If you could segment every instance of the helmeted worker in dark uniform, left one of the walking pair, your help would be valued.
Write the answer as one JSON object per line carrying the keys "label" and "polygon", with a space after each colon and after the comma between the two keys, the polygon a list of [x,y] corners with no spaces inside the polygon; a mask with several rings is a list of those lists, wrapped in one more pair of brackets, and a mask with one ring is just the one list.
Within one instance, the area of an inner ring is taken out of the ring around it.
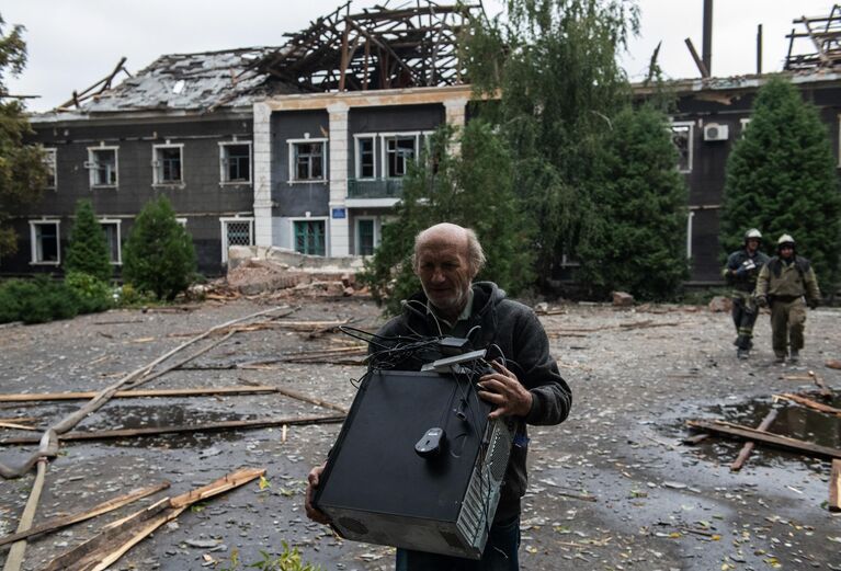
{"label": "helmeted worker in dark uniform, left one of the walking pair", "polygon": [[769,258],[760,252],[762,233],[755,228],[745,232],[745,242],[740,250],[727,258],[727,265],[721,272],[732,286],[732,322],[736,326],[736,356],[748,358],[753,346],[753,323],[757,321],[757,304],[753,290],[757,288],[759,271]]}

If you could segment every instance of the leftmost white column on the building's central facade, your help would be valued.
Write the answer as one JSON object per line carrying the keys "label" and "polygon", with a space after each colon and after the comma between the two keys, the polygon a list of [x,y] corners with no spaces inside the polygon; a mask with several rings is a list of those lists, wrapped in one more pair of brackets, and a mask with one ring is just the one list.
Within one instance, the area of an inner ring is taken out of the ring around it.
{"label": "leftmost white column on the building's central facade", "polygon": [[272,236],[272,110],[254,103],[254,243],[270,247]]}

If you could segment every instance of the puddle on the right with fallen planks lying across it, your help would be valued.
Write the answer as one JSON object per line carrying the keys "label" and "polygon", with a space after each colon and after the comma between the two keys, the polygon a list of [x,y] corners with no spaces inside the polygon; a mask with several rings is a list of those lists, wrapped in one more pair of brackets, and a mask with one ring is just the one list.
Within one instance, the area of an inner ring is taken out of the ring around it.
{"label": "puddle on the right with fallen planks lying across it", "polygon": [[[821,400],[815,393],[804,396],[816,402],[841,409],[841,397],[839,396],[836,396],[831,401]],[[757,427],[771,409],[776,409],[777,415],[769,427],[769,432],[820,446],[841,448],[841,418],[818,412],[794,402],[781,400],[774,403],[771,398],[763,398],[741,403],[718,404],[705,409],[705,412],[727,422]],[[743,441],[715,436],[702,442],[695,448],[704,456],[720,460],[721,458],[736,458],[742,445]],[[791,461],[800,461],[812,467],[819,465],[821,459],[771,446],[758,446],[751,456],[751,462],[766,467],[782,467]]]}

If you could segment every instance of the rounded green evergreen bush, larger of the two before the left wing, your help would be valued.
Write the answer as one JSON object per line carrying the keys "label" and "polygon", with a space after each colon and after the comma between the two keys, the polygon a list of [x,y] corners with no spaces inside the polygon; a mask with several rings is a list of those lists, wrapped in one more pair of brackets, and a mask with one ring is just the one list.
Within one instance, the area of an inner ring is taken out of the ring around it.
{"label": "rounded green evergreen bush, larger of the two before the left wing", "polygon": [[193,242],[175,220],[169,199],[161,195],[148,202],[126,240],[125,281],[158,299],[172,300],[187,288],[195,267]]}

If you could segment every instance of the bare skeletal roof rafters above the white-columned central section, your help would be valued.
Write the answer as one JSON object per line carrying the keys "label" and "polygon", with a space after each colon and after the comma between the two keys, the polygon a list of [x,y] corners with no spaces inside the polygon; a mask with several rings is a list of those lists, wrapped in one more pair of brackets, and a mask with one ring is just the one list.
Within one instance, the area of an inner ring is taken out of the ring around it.
{"label": "bare skeletal roof rafters above the white-columned central section", "polygon": [[257,61],[266,73],[302,91],[360,91],[463,83],[459,35],[480,4],[417,0],[351,14],[350,2]]}

